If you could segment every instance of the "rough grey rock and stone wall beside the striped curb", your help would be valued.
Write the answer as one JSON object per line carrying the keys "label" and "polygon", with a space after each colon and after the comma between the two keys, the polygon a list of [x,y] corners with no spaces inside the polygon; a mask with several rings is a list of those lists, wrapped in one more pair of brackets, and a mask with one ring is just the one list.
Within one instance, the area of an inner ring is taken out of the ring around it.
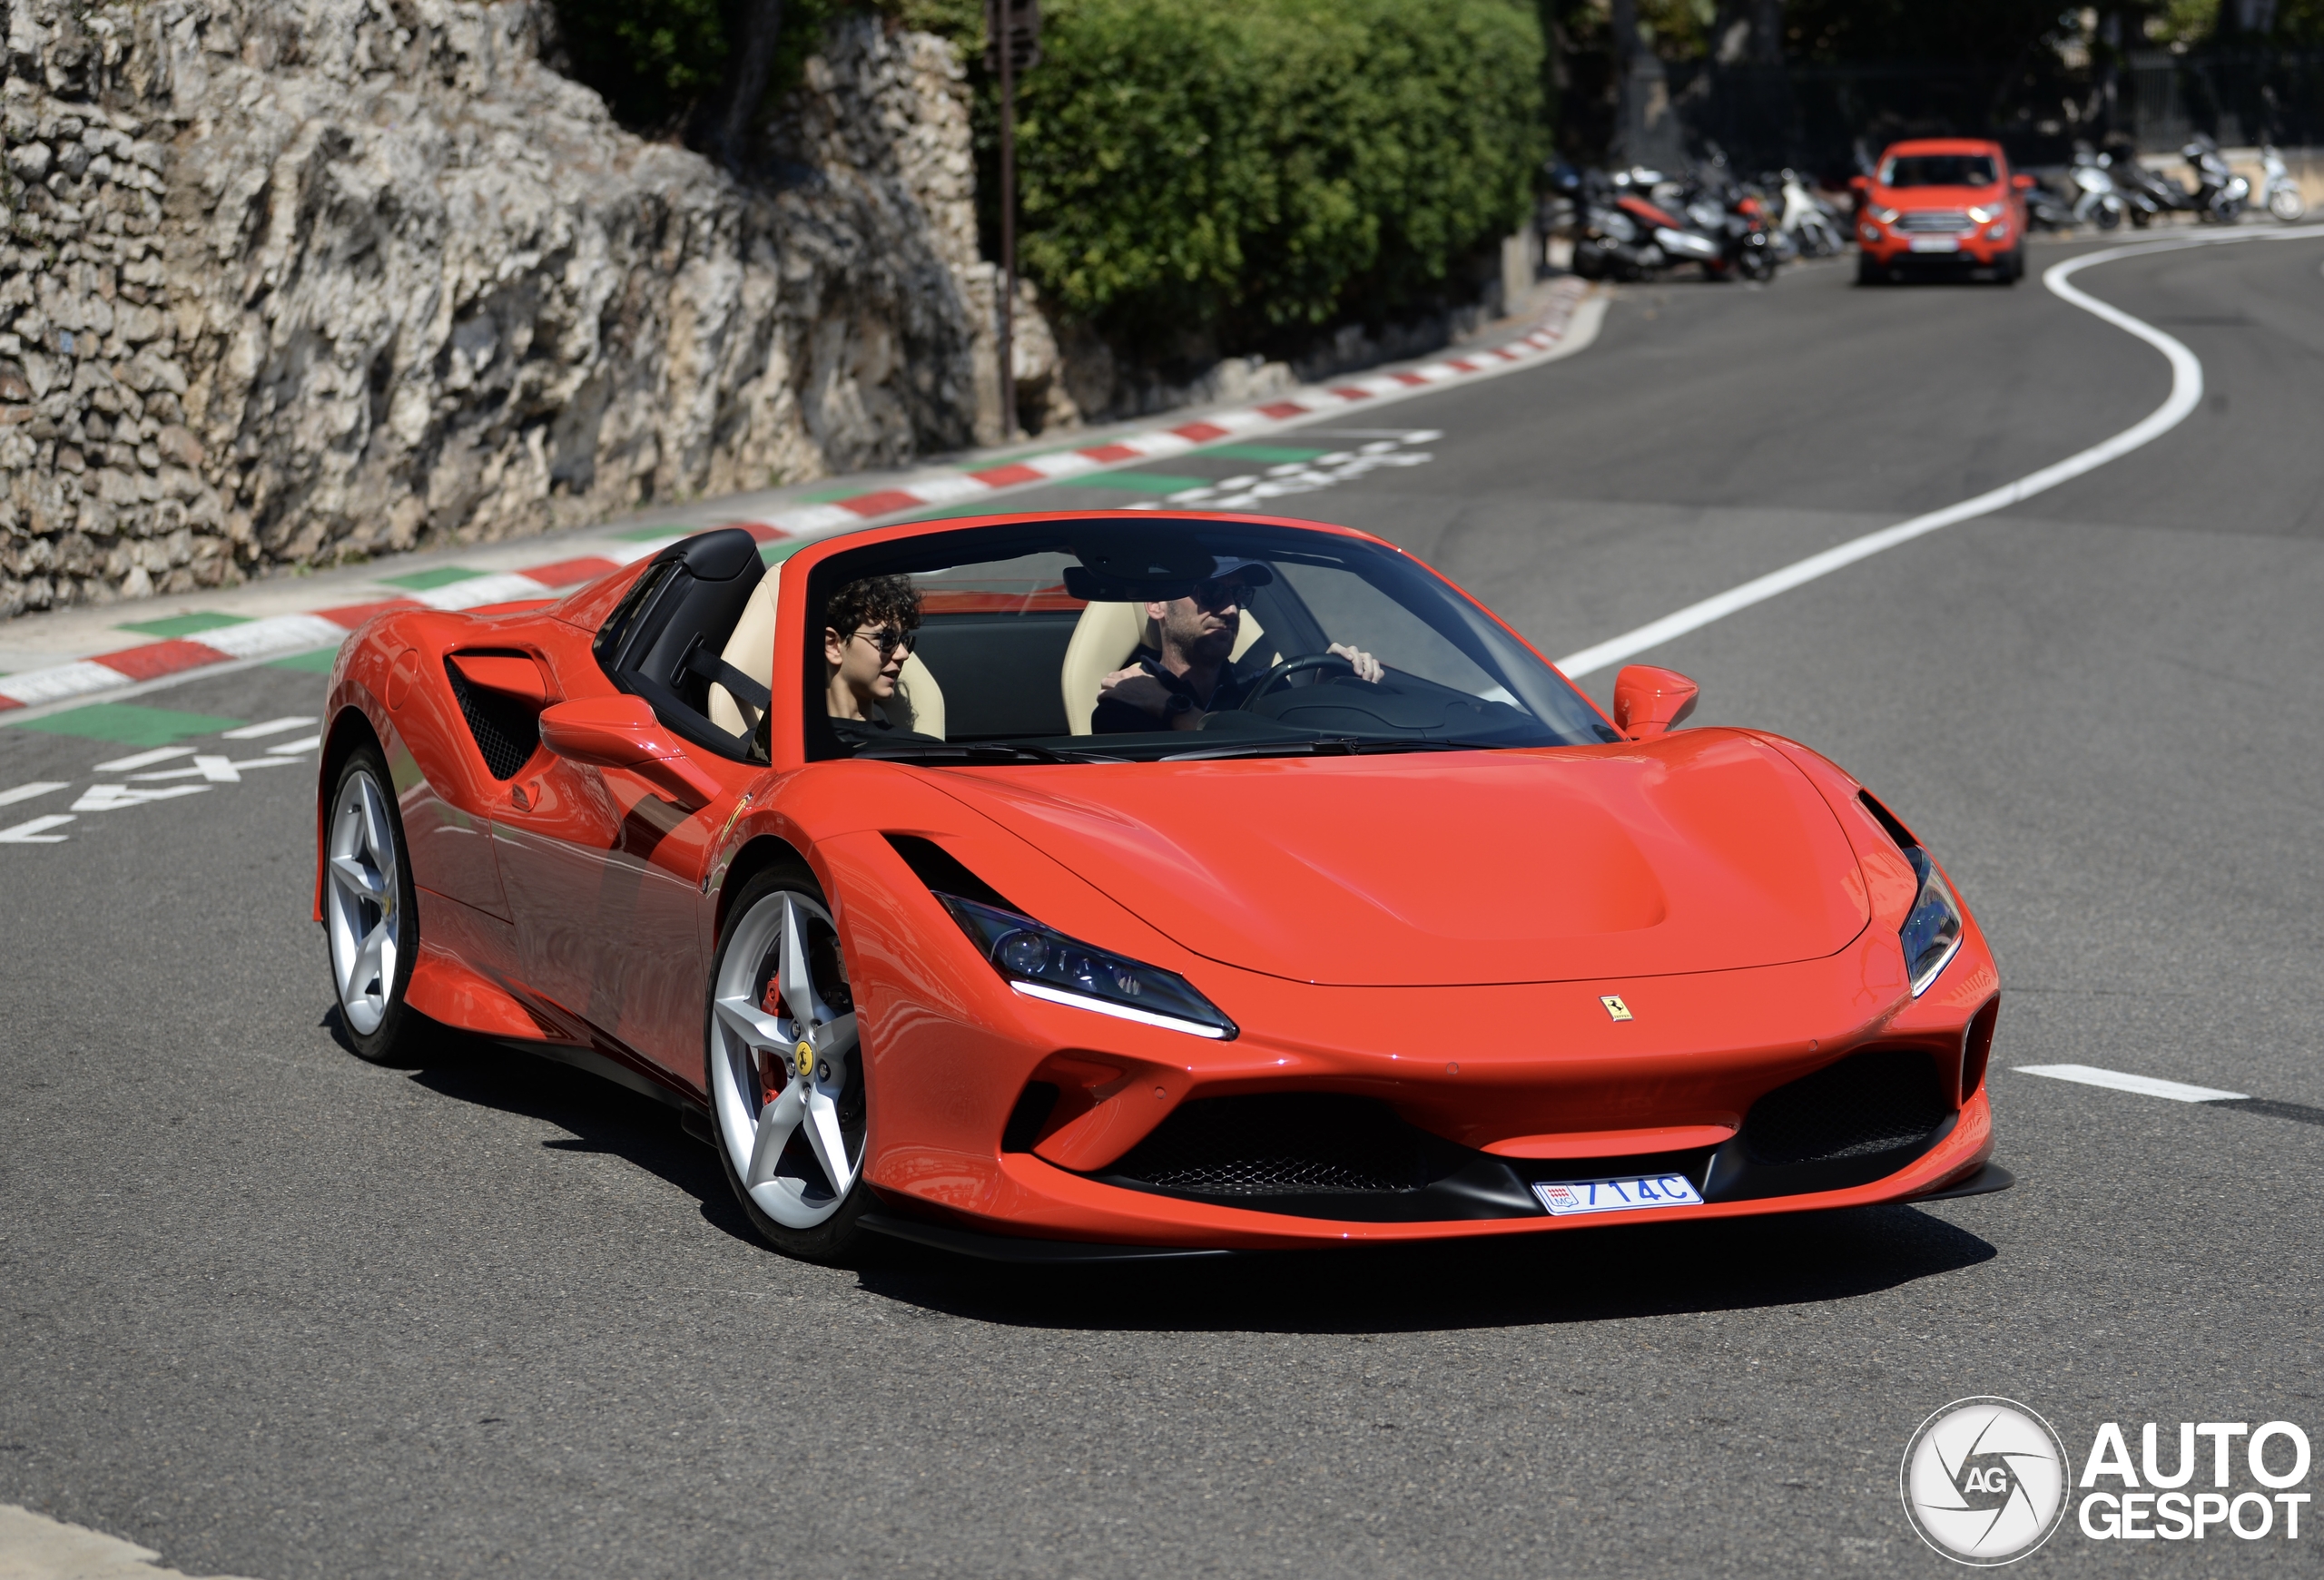
{"label": "rough grey rock and stone wall beside the striped curb", "polygon": [[0,12],[0,613],[999,435],[934,37],[839,23],[762,191],[616,128],[525,0]]}

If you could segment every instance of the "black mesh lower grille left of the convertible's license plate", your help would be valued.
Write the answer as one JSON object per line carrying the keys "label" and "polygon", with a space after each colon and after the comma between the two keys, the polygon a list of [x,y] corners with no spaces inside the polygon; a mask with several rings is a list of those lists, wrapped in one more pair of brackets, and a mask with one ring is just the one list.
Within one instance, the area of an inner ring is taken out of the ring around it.
{"label": "black mesh lower grille left of the convertible's license plate", "polygon": [[1427,1136],[1364,1097],[1206,1097],[1106,1173],[1197,1197],[1420,1190]]}

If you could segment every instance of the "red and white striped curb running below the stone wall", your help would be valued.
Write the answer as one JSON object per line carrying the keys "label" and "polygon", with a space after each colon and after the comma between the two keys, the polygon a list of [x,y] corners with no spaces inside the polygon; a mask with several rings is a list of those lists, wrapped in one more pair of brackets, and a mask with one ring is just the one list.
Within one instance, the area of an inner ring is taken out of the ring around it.
{"label": "red and white striped curb running below the stone wall", "polygon": [[[741,520],[732,525],[746,527],[762,544],[816,537],[862,525],[881,516],[957,504],[978,495],[995,495],[1032,483],[1060,483],[1134,460],[1185,455],[1188,451],[1218,444],[1220,439],[1248,437],[1274,428],[1306,423],[1318,416],[1362,409],[1367,402],[1376,404],[1399,395],[1411,395],[1413,390],[1473,379],[1478,374],[1508,372],[1515,365],[1532,362],[1543,353],[1555,351],[1566,337],[1573,311],[1587,293],[1590,288],[1578,279],[1557,281],[1550,288],[1550,307],[1541,323],[1520,339],[1492,351],[1466,351],[1462,356],[1448,356],[1436,362],[1425,362],[1422,367],[1408,367],[1392,374],[1311,386],[1285,395],[1283,400],[1236,411],[1215,411],[1202,421],[1181,423],[1176,428],[1125,435],[1120,439],[1109,439],[1106,444],[1055,451],[1050,455],[1030,455],[1025,460],[1011,460],[1006,465],[983,467],[976,472],[913,479],[909,486],[878,488],[848,500],[804,504],[799,509],[776,511],[765,520]],[[1215,490],[1190,490],[1188,495],[1176,495],[1174,500],[1183,500],[1185,504],[1195,504],[1199,500],[1204,509],[1232,509],[1227,500],[1202,497],[1206,493]],[[514,604],[523,599],[553,597],[565,588],[595,581],[607,572],[655,553],[679,537],[686,537],[686,532],[672,532],[669,537],[655,539],[616,541],[607,544],[607,553],[602,555],[555,560],[551,565],[535,565],[521,572],[469,574],[460,581],[446,581],[437,588],[381,602],[351,604],[342,609],[314,609],[309,613],[281,613],[260,620],[237,620],[230,625],[214,625],[193,637],[144,641],[132,648],[121,648],[119,653],[98,653],[95,658],[81,658],[70,665],[23,669],[19,674],[0,676],[0,713],[70,702],[74,697],[95,697],[100,692],[142,685],[186,669],[311,653],[316,648],[337,646],[351,630],[386,609],[481,609],[486,604]]]}

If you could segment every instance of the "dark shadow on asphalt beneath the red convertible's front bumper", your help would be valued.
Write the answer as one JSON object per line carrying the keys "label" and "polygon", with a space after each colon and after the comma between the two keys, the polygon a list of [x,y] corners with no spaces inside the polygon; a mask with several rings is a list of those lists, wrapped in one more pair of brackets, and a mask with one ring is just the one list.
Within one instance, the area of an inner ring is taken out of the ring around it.
{"label": "dark shadow on asphalt beneath the red convertible's front bumper", "polygon": [[1109,1269],[911,1250],[860,1278],[895,1301],[1011,1327],[1392,1334],[1843,1301],[1996,1255],[1941,1218],[1875,1206]]}

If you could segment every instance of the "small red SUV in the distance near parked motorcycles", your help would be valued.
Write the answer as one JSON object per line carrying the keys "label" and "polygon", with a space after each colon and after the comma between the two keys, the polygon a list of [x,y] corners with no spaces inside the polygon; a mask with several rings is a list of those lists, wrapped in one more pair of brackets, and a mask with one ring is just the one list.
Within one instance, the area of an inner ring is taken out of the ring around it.
{"label": "small red SUV in the distance near parked motorcycles", "polygon": [[1920,137],[1889,144],[1857,177],[1857,283],[1908,267],[1992,270],[2003,286],[2027,272],[2027,202],[2033,177],[2013,177],[1999,142]]}

